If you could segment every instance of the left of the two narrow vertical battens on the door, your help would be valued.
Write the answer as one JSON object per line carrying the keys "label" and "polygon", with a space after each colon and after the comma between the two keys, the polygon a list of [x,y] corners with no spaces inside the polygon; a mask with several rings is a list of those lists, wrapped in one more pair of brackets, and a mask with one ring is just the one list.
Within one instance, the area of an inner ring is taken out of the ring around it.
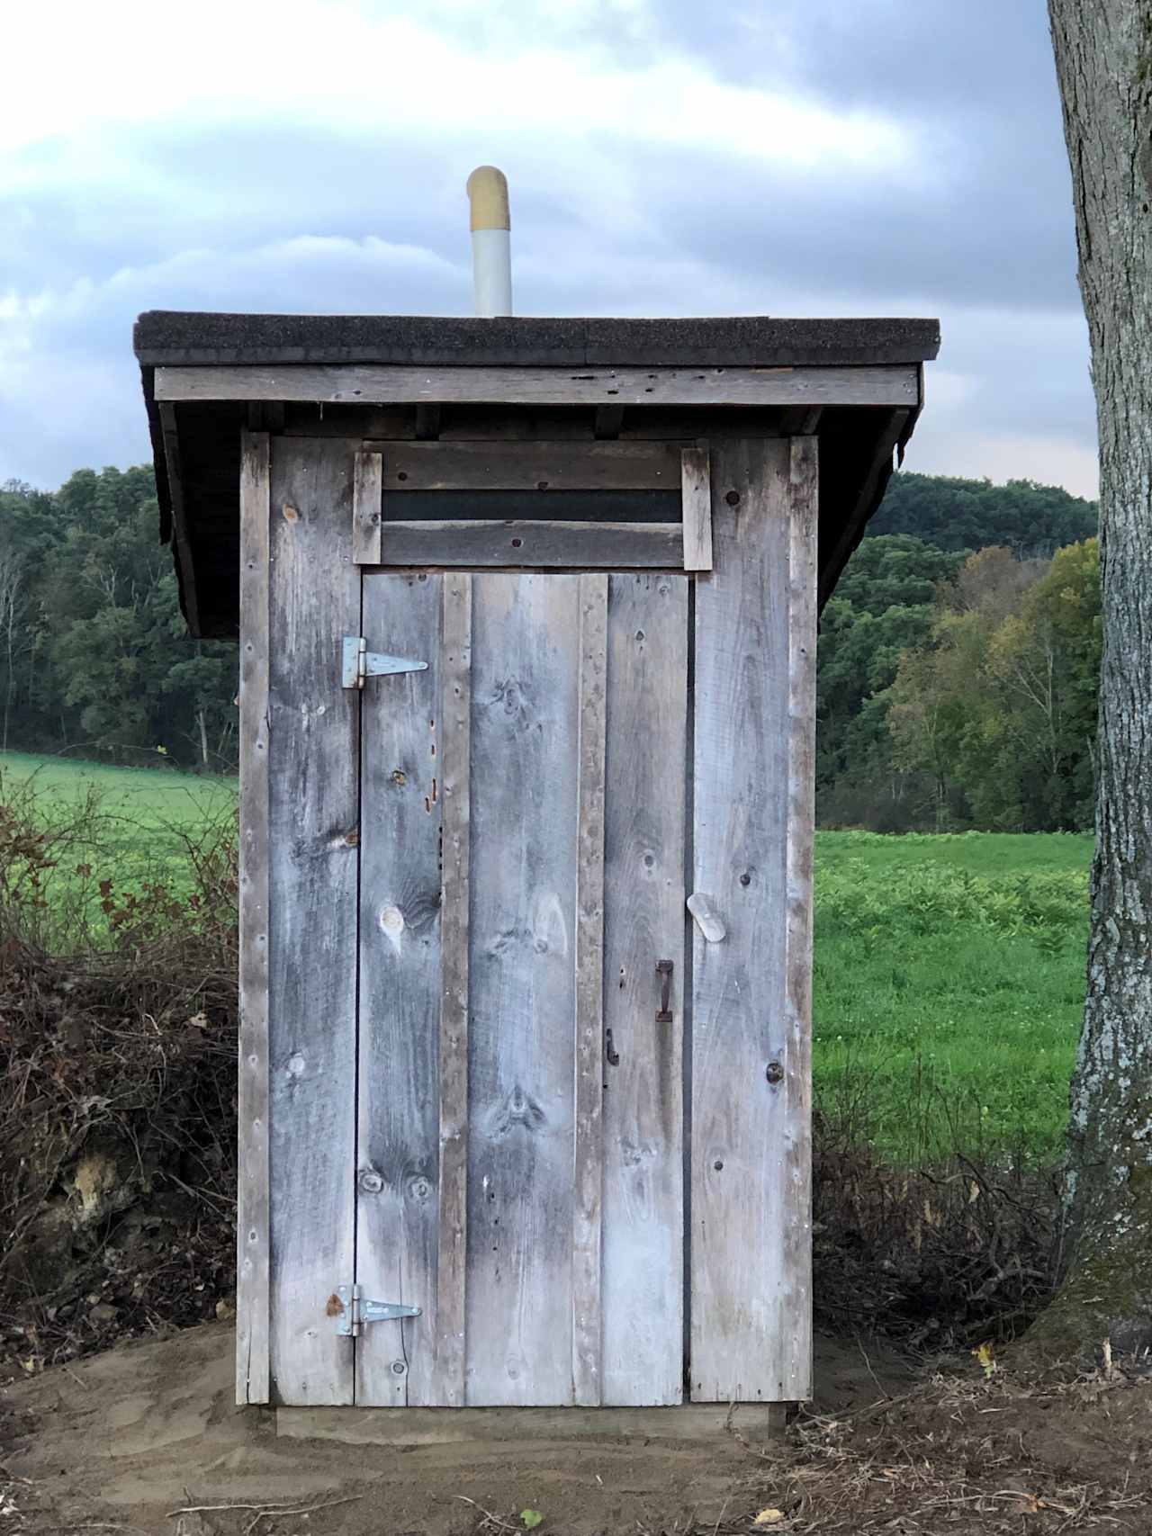
{"label": "left of the two narrow vertical battens on the door", "polygon": [[468,1230],[472,576],[444,576],[441,703],[439,1238],[436,1402],[464,1407]]}

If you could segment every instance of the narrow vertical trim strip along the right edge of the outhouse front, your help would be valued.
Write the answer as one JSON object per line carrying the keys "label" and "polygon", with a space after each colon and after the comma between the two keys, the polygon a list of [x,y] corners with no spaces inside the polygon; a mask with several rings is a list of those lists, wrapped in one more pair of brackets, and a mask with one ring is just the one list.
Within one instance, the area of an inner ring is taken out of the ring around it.
{"label": "narrow vertical trim strip along the right edge of the outhouse front", "polygon": [[783,1295],[793,1313],[791,1387],[813,1369],[813,837],[816,826],[817,438],[791,439],[788,507],[788,852],[785,868]]}

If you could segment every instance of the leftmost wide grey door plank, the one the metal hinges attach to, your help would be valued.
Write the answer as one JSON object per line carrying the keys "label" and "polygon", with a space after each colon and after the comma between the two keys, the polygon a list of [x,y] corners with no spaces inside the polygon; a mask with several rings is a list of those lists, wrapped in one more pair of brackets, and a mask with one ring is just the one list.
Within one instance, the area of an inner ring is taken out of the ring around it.
{"label": "leftmost wide grey door plank, the one the metal hinges attach to", "polygon": [[[452,578],[455,581],[455,578]],[[356,1279],[421,1307],[356,1341],[356,1402],[436,1405],[441,1028],[441,625],[445,578],[364,578],[370,650],[427,671],[362,699]]]}

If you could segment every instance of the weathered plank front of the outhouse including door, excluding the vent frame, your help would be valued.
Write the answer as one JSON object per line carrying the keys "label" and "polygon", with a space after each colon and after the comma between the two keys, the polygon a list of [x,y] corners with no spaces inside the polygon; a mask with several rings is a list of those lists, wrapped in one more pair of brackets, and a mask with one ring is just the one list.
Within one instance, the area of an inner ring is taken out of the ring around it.
{"label": "weathered plank front of the outhouse including door, excluding the vent frame", "polygon": [[806,1398],[814,441],[694,578],[361,574],[355,459],[244,439],[238,1399]]}

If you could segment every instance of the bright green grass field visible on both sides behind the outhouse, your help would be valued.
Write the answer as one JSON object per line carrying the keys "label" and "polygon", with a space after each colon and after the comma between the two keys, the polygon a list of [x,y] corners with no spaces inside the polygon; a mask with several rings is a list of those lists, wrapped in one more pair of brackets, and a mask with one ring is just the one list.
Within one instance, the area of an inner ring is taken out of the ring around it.
{"label": "bright green grass field visible on both sides behind the outhouse", "polygon": [[[97,791],[92,863],[181,885],[181,829],[235,780],[0,757],[49,816]],[[817,834],[817,1103],[889,1155],[1058,1155],[1080,1025],[1091,839]]]}

